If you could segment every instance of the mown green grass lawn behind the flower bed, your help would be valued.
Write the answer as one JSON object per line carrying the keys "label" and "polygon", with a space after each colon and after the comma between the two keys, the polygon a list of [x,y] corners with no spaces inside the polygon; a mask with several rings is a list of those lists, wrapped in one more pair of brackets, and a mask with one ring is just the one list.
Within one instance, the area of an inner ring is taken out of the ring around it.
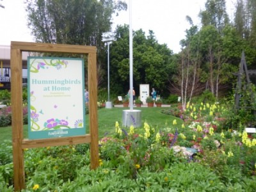
{"label": "mown green grass lawn behind the flower bed", "polygon": [[[102,138],[106,133],[113,134],[116,121],[122,127],[122,113],[124,109],[129,108],[102,108],[98,110],[99,138]],[[143,129],[144,122],[147,122],[150,127],[154,127],[156,130],[172,125],[174,119],[177,119],[177,126],[182,124],[182,120],[179,118],[161,113],[163,109],[168,108],[140,108],[141,127],[137,129]],[[28,138],[28,125],[24,125],[23,130],[24,138]],[[89,115],[86,115],[86,132],[90,132]],[[0,141],[3,140],[12,140],[12,127],[0,127]]]}

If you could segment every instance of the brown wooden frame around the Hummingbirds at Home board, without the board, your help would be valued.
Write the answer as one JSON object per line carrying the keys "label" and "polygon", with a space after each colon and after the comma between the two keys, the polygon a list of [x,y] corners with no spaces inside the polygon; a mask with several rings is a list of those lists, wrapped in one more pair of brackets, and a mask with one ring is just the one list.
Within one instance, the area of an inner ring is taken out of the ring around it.
{"label": "brown wooden frame around the Hummingbirds at Home board, without the board", "polygon": [[[23,136],[22,104],[22,51],[66,52],[88,54],[89,127],[90,134],[63,138],[28,140]],[[96,47],[83,45],[41,44],[11,42],[11,97],[12,97],[12,145],[13,180],[15,191],[25,189],[24,148],[51,147],[90,143],[91,168],[99,166],[99,136],[97,120],[97,66]]]}

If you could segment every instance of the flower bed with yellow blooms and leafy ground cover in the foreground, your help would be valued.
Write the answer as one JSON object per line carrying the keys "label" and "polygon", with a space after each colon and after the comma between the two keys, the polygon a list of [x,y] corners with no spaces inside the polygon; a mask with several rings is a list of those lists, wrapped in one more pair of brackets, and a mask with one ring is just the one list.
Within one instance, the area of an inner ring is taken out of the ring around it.
{"label": "flower bed with yellow blooms and leafy ground cover in the foreground", "polygon": [[[227,127],[228,111],[188,104],[180,119],[140,128],[117,119],[100,138],[97,170],[88,144],[24,150],[24,191],[254,191],[256,136]],[[10,145],[1,144],[0,191],[13,191]]]}

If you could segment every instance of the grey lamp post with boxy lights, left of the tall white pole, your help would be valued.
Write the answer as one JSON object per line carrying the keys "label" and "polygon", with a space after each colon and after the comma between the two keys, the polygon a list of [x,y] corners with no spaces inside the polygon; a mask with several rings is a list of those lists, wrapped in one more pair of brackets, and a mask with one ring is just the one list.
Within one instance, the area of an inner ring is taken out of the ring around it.
{"label": "grey lamp post with boxy lights, left of the tall white pole", "polygon": [[115,40],[115,34],[113,32],[102,33],[102,42],[108,44],[108,102],[106,102],[106,108],[112,108],[112,102],[109,100],[109,44]]}

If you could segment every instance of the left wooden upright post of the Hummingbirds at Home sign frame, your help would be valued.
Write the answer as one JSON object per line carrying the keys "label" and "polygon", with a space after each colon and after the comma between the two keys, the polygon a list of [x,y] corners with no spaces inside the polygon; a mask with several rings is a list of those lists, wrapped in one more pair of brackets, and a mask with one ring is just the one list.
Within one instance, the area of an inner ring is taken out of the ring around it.
{"label": "left wooden upright post of the Hummingbirds at Home sign frame", "polygon": [[11,101],[12,101],[12,146],[13,180],[15,191],[25,188],[25,169],[22,150],[23,111],[22,111],[22,53],[11,49]]}

